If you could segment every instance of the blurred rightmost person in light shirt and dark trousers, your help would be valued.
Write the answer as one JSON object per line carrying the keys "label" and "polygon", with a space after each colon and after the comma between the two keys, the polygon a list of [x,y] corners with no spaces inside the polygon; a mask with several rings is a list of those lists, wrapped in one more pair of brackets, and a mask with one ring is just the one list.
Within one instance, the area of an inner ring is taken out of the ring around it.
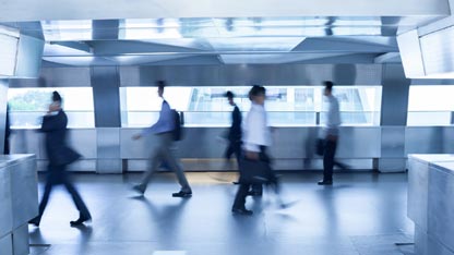
{"label": "blurred rightmost person in light shirt and dark trousers", "polygon": [[334,156],[336,155],[337,141],[339,136],[338,126],[340,125],[340,112],[339,102],[337,98],[333,96],[333,82],[324,82],[324,96],[328,101],[328,110],[326,117],[325,126],[325,142],[323,151],[323,180],[319,185],[332,185],[333,184],[333,168]]}

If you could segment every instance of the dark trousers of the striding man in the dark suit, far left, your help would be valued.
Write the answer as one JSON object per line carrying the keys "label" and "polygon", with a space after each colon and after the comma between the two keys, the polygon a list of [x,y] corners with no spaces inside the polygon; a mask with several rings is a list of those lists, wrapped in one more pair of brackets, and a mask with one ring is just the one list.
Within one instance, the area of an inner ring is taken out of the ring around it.
{"label": "dark trousers of the striding man in the dark suit, far left", "polygon": [[81,195],[79,194],[75,186],[72,184],[68,172],[65,171],[65,166],[50,166],[48,170],[46,187],[44,190],[44,195],[41,202],[39,203],[39,219],[43,217],[43,214],[46,209],[47,203],[49,202],[50,193],[52,192],[53,186],[62,184],[67,191],[71,194],[71,197],[74,202],[75,207],[80,211],[81,216],[85,218],[91,218],[88,208],[85,203],[82,201]]}

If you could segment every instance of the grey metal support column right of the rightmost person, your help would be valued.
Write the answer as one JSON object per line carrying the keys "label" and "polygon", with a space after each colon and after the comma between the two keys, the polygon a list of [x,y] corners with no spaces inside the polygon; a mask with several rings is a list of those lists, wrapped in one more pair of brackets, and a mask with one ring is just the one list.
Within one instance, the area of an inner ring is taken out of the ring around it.
{"label": "grey metal support column right of the rightmost person", "polygon": [[408,114],[408,95],[411,81],[405,77],[402,64],[384,64],[381,107],[381,172],[406,169],[405,127]]}

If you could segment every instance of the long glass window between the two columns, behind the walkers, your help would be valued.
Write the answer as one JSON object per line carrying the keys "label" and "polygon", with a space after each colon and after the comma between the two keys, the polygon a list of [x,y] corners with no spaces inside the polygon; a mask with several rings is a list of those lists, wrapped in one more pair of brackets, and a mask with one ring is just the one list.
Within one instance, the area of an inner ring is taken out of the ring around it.
{"label": "long glass window between the two columns, behind the walkers", "polygon": [[[321,86],[266,86],[268,123],[274,126],[316,125],[324,123],[326,101]],[[171,108],[184,112],[188,126],[228,126],[232,107],[225,93],[231,90],[235,102],[246,114],[250,109],[250,86],[167,87],[165,98]],[[160,99],[155,87],[122,87],[122,126],[148,126],[157,121]],[[344,124],[379,125],[381,86],[338,86]],[[320,116],[320,118],[318,118]]]}

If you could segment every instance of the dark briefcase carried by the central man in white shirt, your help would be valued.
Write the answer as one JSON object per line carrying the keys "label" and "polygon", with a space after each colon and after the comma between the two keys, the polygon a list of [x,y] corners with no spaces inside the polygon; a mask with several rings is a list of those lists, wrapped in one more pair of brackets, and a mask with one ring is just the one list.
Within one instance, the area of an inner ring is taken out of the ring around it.
{"label": "dark briefcase carried by the central man in white shirt", "polygon": [[263,160],[241,158],[239,163],[240,179],[243,184],[262,184],[270,182],[272,169],[270,163]]}

